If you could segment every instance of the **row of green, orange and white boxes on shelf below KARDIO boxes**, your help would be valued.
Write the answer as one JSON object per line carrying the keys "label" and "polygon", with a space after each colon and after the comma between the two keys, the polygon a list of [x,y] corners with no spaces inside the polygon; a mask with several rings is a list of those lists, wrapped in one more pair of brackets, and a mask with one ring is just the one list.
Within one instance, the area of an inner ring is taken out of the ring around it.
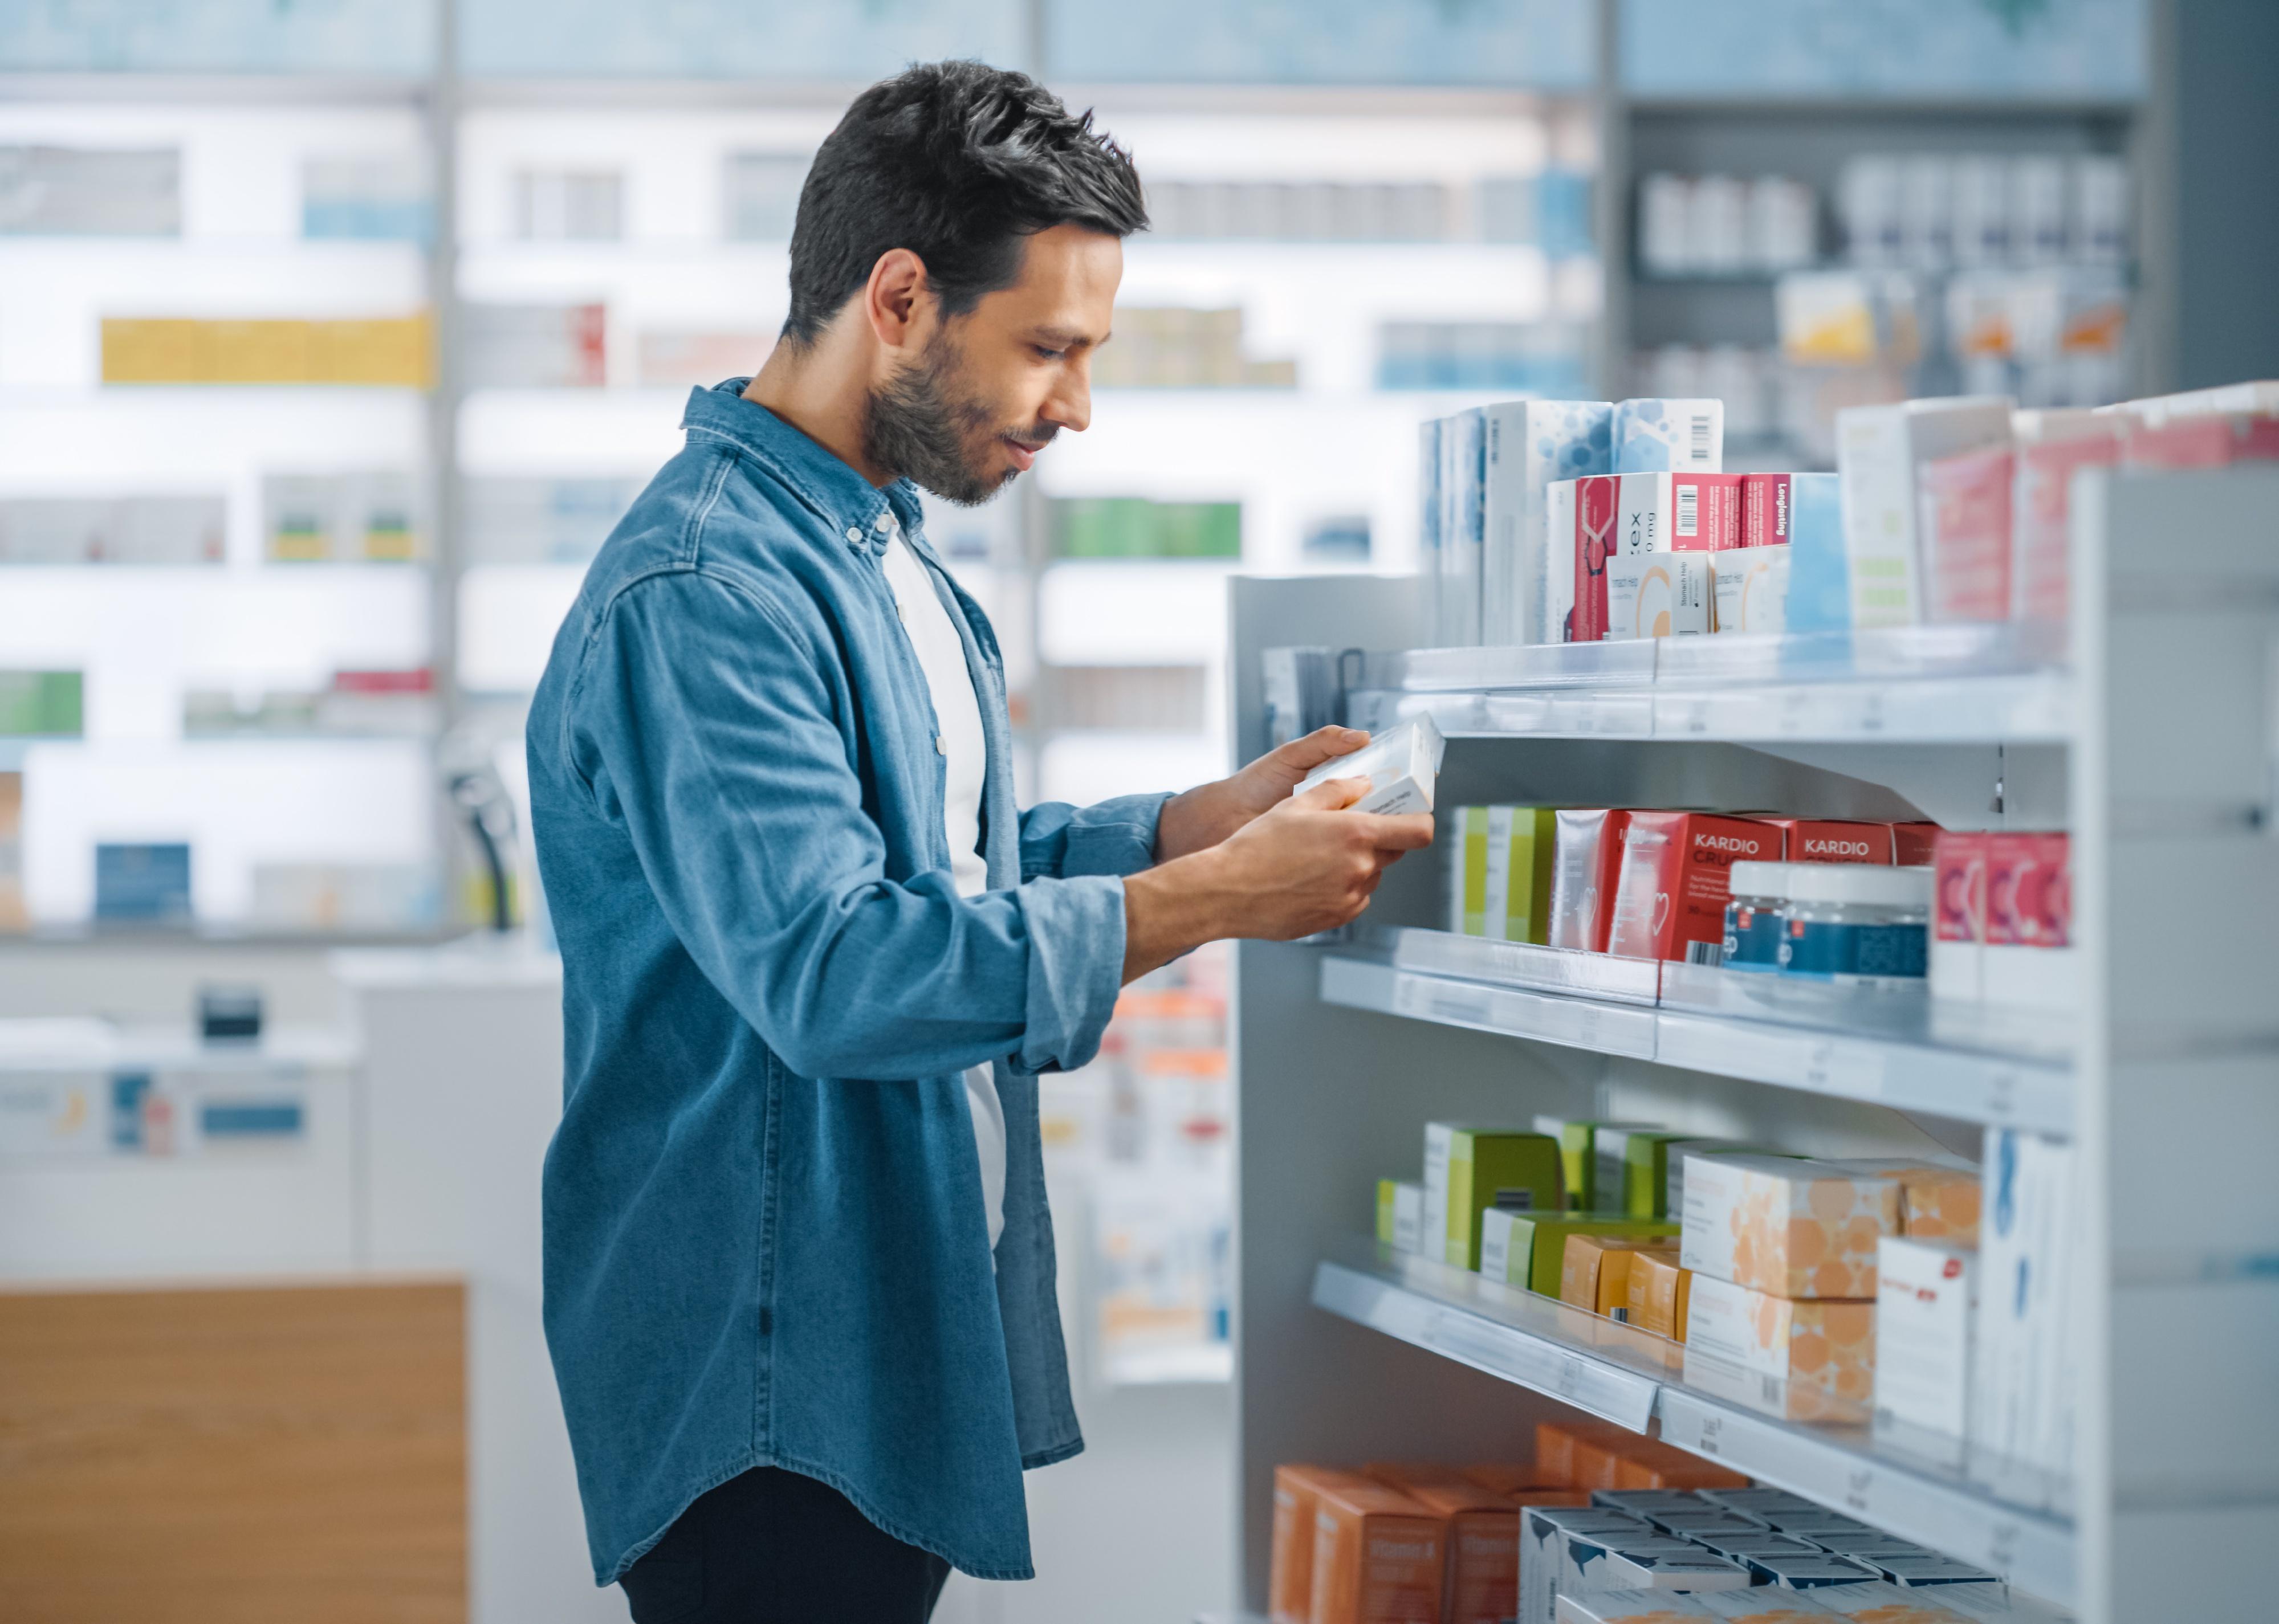
{"label": "row of green, orange and white boxes on shelf below KARDIO boxes", "polygon": [[[2056,1330],[2072,1289],[2069,1150],[1999,1130],[1985,1166],[1983,1191],[1978,1168],[1935,1155],[1803,1157],[1557,1116],[1429,1123],[1424,1178],[1379,1182],[1377,1237],[1684,1344],[1705,1355],[1689,1380],[1755,1408],[1830,1419],[1873,1405],[1999,1465],[2069,1460]],[[1990,1278],[2001,1301],[1980,1319]]]}

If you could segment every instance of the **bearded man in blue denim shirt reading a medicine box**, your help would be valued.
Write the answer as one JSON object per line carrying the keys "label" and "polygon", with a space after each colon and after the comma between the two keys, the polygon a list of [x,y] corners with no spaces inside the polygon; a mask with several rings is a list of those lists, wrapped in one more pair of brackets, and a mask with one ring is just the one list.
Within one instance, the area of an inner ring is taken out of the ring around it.
{"label": "bearded man in blue denim shirt reading a medicine box", "polygon": [[816,155],[761,374],[602,549],[531,704],[563,950],[547,1339],[638,1624],[923,1619],[1028,1578],[1073,1455],[1037,1141],[1117,989],[1356,916],[1427,818],[1292,797],[1326,729],[1185,795],[1012,799],[1005,679],[918,526],[1092,403],[1130,159],[1019,73],[921,66]]}

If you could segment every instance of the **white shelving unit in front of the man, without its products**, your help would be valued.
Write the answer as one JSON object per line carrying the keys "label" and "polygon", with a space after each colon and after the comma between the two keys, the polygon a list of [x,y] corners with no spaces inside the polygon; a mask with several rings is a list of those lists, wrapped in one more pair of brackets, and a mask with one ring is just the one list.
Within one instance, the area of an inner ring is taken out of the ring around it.
{"label": "white shelving unit in front of the man, without its products", "polygon": [[[2085,1624],[2254,1617],[2279,1481],[2279,474],[2090,476],[2069,635],[1408,649],[1397,583],[1233,590],[1235,738],[1260,654],[1345,654],[1356,722],[1449,729],[1443,804],[1780,806],[2067,827],[2083,1004],[2062,1020],[1789,993],[1438,929],[1436,859],[1367,927],[1244,943],[1235,970],[1242,1606],[1283,1460],[1522,1455],[1582,1408],[2006,1574]],[[2197,538],[2179,549],[2176,538]],[[1807,699],[1791,699],[1807,695]],[[1566,708],[1561,708],[1566,706]],[[1794,724],[1766,724],[1794,708]],[[1588,717],[1577,724],[1575,717]],[[1625,727],[1604,724],[1629,717]],[[1696,727],[1696,720],[1700,722]],[[2015,1125],[2076,1146],[2092,1287],[2074,1467],[2047,1476],[1796,1419],[1755,1376],[1479,1276],[1383,1253],[1374,1182],[1431,1118],[1666,1121],[1821,1155]],[[2238,1465],[2236,1465],[2238,1462]]]}

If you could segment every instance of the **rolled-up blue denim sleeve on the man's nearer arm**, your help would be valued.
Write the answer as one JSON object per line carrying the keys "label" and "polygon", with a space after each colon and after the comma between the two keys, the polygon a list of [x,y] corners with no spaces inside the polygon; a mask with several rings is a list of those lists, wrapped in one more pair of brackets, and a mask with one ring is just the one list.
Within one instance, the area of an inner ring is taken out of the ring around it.
{"label": "rolled-up blue denim sleeve on the man's nearer arm", "polygon": [[793,1073],[1083,1066],[1124,979],[1121,881],[889,879],[843,699],[773,604],[675,569],[602,613],[565,743],[675,936]]}

